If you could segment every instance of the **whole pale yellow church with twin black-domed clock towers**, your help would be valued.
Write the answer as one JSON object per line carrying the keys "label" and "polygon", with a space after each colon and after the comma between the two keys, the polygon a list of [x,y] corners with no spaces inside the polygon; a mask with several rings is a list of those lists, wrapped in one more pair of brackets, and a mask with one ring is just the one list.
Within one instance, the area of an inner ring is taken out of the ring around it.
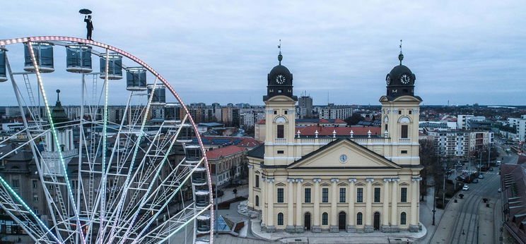
{"label": "whole pale yellow church with twin black-domed clock towers", "polygon": [[247,205],[260,212],[262,230],[419,231],[422,99],[402,53],[380,97],[382,135],[296,133],[293,75],[282,59],[267,76],[264,144],[247,153]]}

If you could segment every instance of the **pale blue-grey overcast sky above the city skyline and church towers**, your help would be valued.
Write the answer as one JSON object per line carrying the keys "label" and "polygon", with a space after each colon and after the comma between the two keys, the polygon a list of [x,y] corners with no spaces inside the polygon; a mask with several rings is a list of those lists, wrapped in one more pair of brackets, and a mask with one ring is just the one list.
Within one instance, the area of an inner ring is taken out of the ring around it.
{"label": "pale blue-grey overcast sky above the city skyline and church towers", "polygon": [[[2,1],[0,39],[85,37],[78,10],[89,8],[93,39],[146,61],[187,104],[262,104],[279,39],[296,95],[378,104],[403,39],[424,104],[526,104],[525,1],[81,2]],[[14,54],[11,63],[23,62]],[[53,89],[78,81],[62,68],[54,75]],[[0,104],[11,104],[7,88]],[[78,92],[61,99],[78,104]]]}

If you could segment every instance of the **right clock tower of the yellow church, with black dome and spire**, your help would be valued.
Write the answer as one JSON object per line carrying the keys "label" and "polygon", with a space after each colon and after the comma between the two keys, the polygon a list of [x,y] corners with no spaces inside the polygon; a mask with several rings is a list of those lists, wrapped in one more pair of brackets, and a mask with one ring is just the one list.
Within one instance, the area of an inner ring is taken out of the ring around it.
{"label": "right clock tower of the yellow church, with black dome and spire", "polygon": [[382,132],[397,144],[390,152],[398,164],[419,164],[419,104],[422,99],[414,95],[416,76],[402,65],[402,41],[398,66],[385,77],[387,94],[380,97],[382,104]]}

